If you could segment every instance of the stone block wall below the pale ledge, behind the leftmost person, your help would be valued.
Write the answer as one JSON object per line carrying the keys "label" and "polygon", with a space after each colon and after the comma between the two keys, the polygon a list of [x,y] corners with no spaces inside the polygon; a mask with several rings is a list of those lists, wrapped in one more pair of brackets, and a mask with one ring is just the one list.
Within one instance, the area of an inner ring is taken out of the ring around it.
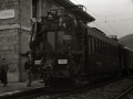
{"label": "stone block wall below the pale ledge, behind the leftmost person", "polygon": [[[18,29],[0,31],[0,57],[6,57],[9,64],[8,80],[17,81],[18,75]],[[1,65],[1,61],[0,61]]]}

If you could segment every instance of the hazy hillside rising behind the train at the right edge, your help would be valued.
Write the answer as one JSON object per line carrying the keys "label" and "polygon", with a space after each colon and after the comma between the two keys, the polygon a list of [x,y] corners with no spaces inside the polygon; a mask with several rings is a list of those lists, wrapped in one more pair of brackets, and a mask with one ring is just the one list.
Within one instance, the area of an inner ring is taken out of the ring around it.
{"label": "hazy hillside rising behind the train at the right edge", "polygon": [[124,44],[126,47],[133,50],[133,34],[119,38],[119,42],[121,44]]}

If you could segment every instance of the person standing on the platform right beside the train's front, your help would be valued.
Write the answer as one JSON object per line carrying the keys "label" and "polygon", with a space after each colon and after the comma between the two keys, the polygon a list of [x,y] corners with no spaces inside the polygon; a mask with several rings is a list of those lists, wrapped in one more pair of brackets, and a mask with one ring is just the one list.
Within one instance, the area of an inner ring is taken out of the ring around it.
{"label": "person standing on the platform right beside the train's front", "polygon": [[24,69],[27,72],[27,87],[31,86],[31,64],[30,64],[30,57],[28,57],[28,61],[24,64]]}

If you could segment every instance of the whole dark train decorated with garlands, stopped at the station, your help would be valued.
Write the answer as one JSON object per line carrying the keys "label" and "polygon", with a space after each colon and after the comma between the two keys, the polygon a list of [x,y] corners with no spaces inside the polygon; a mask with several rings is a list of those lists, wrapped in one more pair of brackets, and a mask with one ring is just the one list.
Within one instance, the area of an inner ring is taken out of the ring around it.
{"label": "whole dark train decorated with garlands, stopped at the station", "polygon": [[133,72],[133,51],[96,28],[75,7],[54,8],[33,22],[30,46],[32,73],[49,87],[73,87]]}

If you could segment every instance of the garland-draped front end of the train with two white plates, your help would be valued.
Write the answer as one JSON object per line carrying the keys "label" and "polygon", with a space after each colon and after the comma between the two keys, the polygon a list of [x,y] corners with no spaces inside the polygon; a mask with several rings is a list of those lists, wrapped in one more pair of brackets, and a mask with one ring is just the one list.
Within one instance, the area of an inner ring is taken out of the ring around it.
{"label": "garland-draped front end of the train with two white plates", "polygon": [[78,84],[84,64],[84,30],[74,15],[63,12],[62,8],[52,9],[35,23],[37,31],[30,40],[32,63],[34,73],[54,84]]}

